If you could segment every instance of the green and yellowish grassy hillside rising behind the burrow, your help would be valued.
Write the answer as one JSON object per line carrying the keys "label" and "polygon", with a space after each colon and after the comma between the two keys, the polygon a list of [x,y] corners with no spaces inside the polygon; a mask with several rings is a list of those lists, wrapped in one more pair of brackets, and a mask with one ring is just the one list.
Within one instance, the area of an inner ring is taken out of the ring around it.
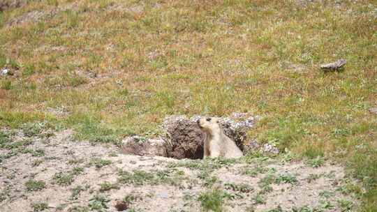
{"label": "green and yellowish grassy hillside rising behind the burrow", "polygon": [[375,1],[29,1],[0,12],[0,126],[111,142],[250,112],[250,137],[345,163],[377,211],[376,21]]}

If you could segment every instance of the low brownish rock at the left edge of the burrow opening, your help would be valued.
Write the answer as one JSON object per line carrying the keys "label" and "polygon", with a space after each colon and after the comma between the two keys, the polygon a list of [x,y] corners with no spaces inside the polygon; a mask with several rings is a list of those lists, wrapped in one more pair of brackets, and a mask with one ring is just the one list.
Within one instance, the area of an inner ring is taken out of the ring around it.
{"label": "low brownish rock at the left edge of the burrow opening", "polygon": [[145,139],[144,137],[127,137],[122,141],[121,151],[136,156],[163,156],[166,157],[165,141],[158,139]]}

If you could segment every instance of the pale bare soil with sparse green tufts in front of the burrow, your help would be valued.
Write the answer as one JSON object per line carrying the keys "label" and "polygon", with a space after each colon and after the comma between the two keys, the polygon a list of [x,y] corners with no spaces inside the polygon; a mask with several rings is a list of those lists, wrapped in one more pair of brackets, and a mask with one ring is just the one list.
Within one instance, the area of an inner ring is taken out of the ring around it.
{"label": "pale bare soil with sparse green tufts in front of the burrow", "polygon": [[216,197],[222,211],[341,211],[339,202],[355,205],[343,189],[343,168],[328,162],[313,167],[267,157],[131,156],[71,135],[65,130],[50,137],[3,137],[0,211],[200,211],[203,194],[214,190],[222,193]]}

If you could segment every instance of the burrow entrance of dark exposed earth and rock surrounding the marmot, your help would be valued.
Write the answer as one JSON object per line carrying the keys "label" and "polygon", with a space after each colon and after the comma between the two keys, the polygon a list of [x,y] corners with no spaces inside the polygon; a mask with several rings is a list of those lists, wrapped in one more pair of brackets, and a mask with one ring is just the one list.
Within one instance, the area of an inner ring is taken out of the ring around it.
{"label": "burrow entrance of dark exposed earth and rock surrounding the marmot", "polygon": [[[139,136],[127,137],[122,142],[121,153],[138,156],[163,156],[176,159],[202,159],[205,133],[196,121],[201,116],[169,116],[163,122],[165,135],[156,139],[145,139]],[[233,114],[221,118],[224,133],[235,141],[239,149],[244,151],[246,132],[253,127],[254,119],[246,114]]]}

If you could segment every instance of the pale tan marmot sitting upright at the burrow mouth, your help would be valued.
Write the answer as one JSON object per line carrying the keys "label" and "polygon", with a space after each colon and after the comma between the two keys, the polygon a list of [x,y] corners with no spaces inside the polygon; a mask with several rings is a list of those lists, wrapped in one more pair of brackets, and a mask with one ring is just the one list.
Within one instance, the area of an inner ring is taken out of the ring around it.
{"label": "pale tan marmot sitting upright at the burrow mouth", "polygon": [[207,157],[239,158],[243,156],[235,142],[224,134],[219,125],[219,119],[205,117],[198,119],[197,123],[206,134],[203,159]]}

